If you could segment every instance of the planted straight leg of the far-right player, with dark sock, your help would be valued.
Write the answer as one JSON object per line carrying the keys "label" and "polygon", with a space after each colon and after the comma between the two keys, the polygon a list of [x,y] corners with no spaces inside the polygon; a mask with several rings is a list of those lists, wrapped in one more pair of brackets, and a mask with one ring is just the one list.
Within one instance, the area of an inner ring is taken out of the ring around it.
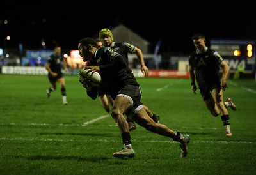
{"label": "planted straight leg of the far-right player, with dark sock", "polygon": [[212,98],[216,102],[216,106],[221,112],[221,121],[223,122],[223,126],[225,127],[226,135],[231,136],[230,130],[230,121],[229,121],[229,114],[228,110],[223,103],[223,91],[221,88],[214,88],[212,90]]}

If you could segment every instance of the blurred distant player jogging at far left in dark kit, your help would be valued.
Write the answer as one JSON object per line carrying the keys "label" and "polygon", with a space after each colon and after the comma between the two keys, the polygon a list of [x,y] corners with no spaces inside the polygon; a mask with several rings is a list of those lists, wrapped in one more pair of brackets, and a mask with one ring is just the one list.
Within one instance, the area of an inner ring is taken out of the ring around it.
{"label": "blurred distant player jogging at far left in dark kit", "polygon": [[62,102],[63,105],[67,105],[67,96],[66,96],[66,88],[65,88],[65,78],[63,73],[61,72],[62,66],[65,69],[65,72],[67,72],[67,61],[66,59],[61,56],[61,47],[56,46],[54,47],[54,52],[51,54],[51,56],[47,59],[47,62],[45,63],[45,68],[48,71],[48,79],[51,83],[51,87],[46,90],[47,97],[51,98],[52,91],[55,91],[57,86],[56,82],[60,83],[61,86],[61,95],[62,95]]}

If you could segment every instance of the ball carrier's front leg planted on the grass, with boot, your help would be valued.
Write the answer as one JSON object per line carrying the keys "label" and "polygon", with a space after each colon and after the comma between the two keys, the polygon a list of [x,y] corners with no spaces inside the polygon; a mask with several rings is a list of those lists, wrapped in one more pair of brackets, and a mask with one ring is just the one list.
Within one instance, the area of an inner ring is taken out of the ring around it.
{"label": "ball carrier's front leg planted on the grass, with boot", "polygon": [[131,146],[132,141],[129,132],[129,126],[123,115],[124,112],[132,106],[132,103],[132,98],[130,96],[116,96],[115,101],[113,103],[113,107],[111,109],[111,116],[113,117],[113,119],[115,119],[115,122],[118,125],[120,133],[122,135],[122,141],[124,144],[124,147],[121,151],[113,153],[113,156],[117,158],[132,158],[135,155],[134,150],[132,149]]}

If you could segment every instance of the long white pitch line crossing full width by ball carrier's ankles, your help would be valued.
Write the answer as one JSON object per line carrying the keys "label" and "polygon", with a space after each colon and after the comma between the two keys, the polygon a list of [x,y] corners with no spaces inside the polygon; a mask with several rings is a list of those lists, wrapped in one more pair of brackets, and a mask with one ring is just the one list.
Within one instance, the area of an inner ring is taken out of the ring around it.
{"label": "long white pitch line crossing full width by ball carrier's ankles", "polygon": [[[40,138],[8,138],[0,137],[0,141],[55,141],[55,142],[119,142],[118,140],[113,139],[84,139],[84,140],[73,140],[73,139],[40,139]],[[145,142],[145,143],[168,143],[168,144],[177,144],[175,141],[141,141],[134,139],[133,142]],[[256,142],[247,142],[247,141],[191,141],[190,143],[195,144],[256,144]]]}

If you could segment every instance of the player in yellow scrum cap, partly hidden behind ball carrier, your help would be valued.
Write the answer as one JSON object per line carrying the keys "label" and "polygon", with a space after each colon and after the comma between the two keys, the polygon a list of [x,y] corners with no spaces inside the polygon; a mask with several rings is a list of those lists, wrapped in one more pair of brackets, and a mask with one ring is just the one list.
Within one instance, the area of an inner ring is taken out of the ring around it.
{"label": "player in yellow scrum cap, partly hidden behind ball carrier", "polygon": [[[128,63],[128,54],[136,54],[140,61],[141,65],[141,72],[144,73],[146,76],[148,75],[148,68],[145,65],[144,62],[144,57],[143,53],[141,52],[141,49],[138,47],[135,47],[134,45],[131,45],[130,43],[127,42],[113,42],[113,34],[111,33],[111,30],[104,28],[99,31],[99,39],[104,45],[104,47],[111,47],[112,49],[116,50],[119,54],[124,57],[125,62],[127,66],[129,65]],[[104,92],[102,92],[104,93]],[[145,110],[148,113],[148,116],[150,116],[156,123],[159,123],[159,115],[158,114],[153,114],[150,109],[148,109],[147,106],[144,105]],[[136,125],[134,121],[132,121],[131,118],[127,118],[127,122],[129,124],[129,130],[134,130],[136,129]]]}

